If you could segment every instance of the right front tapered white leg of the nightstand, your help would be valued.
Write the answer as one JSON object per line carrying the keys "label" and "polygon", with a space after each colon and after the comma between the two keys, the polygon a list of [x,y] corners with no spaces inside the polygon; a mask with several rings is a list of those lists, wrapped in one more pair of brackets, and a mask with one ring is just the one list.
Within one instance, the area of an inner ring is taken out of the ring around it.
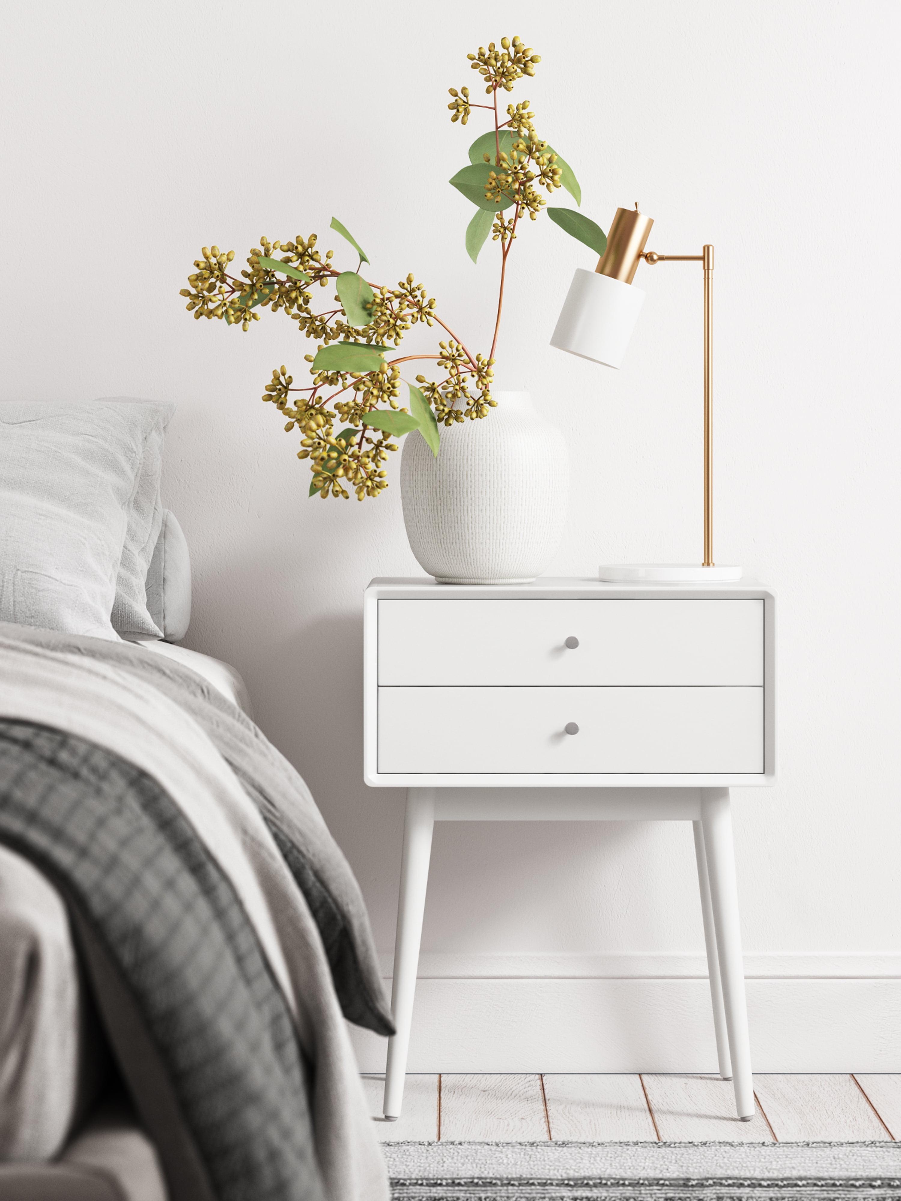
{"label": "right front tapered white leg of the nightstand", "polygon": [[728,788],[703,788],[700,821],[710,879],[720,979],[729,1034],[735,1106],[742,1122],[754,1115],[754,1085],[751,1075],[751,1041],[747,1032],[745,967],[741,960],[739,894],[735,882],[735,850],[732,841],[732,813]]}

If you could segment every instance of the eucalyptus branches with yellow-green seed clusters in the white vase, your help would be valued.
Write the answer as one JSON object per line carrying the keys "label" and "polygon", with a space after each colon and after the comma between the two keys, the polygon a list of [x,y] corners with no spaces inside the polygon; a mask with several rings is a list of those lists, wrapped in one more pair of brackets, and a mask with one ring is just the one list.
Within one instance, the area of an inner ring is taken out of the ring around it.
{"label": "eucalyptus branches with yellow-green seed clusters in the white vase", "polygon": [[[312,376],[310,386],[296,387],[282,365],[273,371],[262,398],[287,419],[286,431],[299,430],[298,458],[310,461],[311,495],[347,498],[352,488],[358,500],[378,496],[388,486],[388,454],[398,449],[390,438],[419,430],[437,454],[440,424],[483,418],[495,405],[491,381],[507,259],[520,219],[527,213],[535,220],[544,204],[536,186],[547,191],[561,186],[562,160],[557,161],[536,135],[527,101],[508,104],[506,120],[499,109],[499,92],[508,92],[518,79],[533,76],[538,55],[519,37],[505,37],[500,46],[490,42],[488,49],[479,47],[467,58],[482,76],[490,103],[475,103],[469,88],[452,88],[450,120],[466,125],[473,109],[484,109],[491,113],[494,127],[470,148],[471,166],[450,183],[477,207],[466,240],[473,261],[489,233],[501,243],[497,313],[488,355],[469,349],[438,316],[435,299],[412,274],[394,287],[366,280],[360,273],[369,258],[335,217],[332,229],[357,253],[353,269],[339,270],[333,250],[323,256],[315,233],[287,241],[261,238],[240,275],[229,270],[234,251],[204,246],[189,275],[189,287],[181,289],[195,318],[225,321],[246,331],[263,311],[281,310],[317,343],[315,353],[304,355]],[[485,143],[485,138],[490,141]],[[566,180],[562,183],[573,190]],[[574,177],[572,184],[578,189]],[[503,216],[508,208],[513,210],[509,220]],[[315,312],[312,289],[329,283],[335,288],[338,307]],[[436,353],[387,359],[389,348],[398,347],[416,324],[438,325],[448,340],[438,342]],[[435,363],[438,378],[418,375],[416,384],[402,381],[400,364],[414,360]],[[402,386],[408,388],[408,407],[400,404]],[[336,423],[345,428],[339,429]]]}

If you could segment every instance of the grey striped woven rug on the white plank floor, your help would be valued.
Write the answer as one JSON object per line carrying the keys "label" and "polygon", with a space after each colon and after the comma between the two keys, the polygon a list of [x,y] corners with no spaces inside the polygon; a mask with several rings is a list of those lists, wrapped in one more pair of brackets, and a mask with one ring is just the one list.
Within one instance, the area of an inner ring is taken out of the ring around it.
{"label": "grey striped woven rug on the white plank floor", "polygon": [[383,1143],[394,1201],[900,1201],[895,1142]]}

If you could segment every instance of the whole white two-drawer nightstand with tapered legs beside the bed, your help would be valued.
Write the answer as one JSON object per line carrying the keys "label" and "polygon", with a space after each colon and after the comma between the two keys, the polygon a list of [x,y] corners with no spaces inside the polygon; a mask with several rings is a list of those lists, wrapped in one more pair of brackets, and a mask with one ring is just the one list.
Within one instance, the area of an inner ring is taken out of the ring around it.
{"label": "whole white two-drawer nightstand with tapered legs beside the bed", "polygon": [[[775,778],[775,602],[746,584],[372,580],[364,772],[407,789],[384,1115],[404,1095],[435,821],[694,824],[720,1071],[754,1112],[729,788]],[[448,737],[444,718],[466,722]]]}

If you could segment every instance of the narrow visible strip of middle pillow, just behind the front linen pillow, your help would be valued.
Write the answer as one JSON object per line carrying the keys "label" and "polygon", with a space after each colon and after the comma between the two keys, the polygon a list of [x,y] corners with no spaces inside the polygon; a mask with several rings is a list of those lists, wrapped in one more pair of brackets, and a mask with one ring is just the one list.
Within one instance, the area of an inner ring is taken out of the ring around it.
{"label": "narrow visible strip of middle pillow, just behind the front linen pillow", "polygon": [[115,580],[113,629],[129,641],[162,638],[162,627],[154,621],[148,607],[145,581],[162,526],[163,508],[160,500],[162,443],[175,406],[135,400],[131,396],[109,396],[95,404],[123,406],[125,416],[131,416],[144,432],[144,453],[137,484],[129,502],[123,557]]}

